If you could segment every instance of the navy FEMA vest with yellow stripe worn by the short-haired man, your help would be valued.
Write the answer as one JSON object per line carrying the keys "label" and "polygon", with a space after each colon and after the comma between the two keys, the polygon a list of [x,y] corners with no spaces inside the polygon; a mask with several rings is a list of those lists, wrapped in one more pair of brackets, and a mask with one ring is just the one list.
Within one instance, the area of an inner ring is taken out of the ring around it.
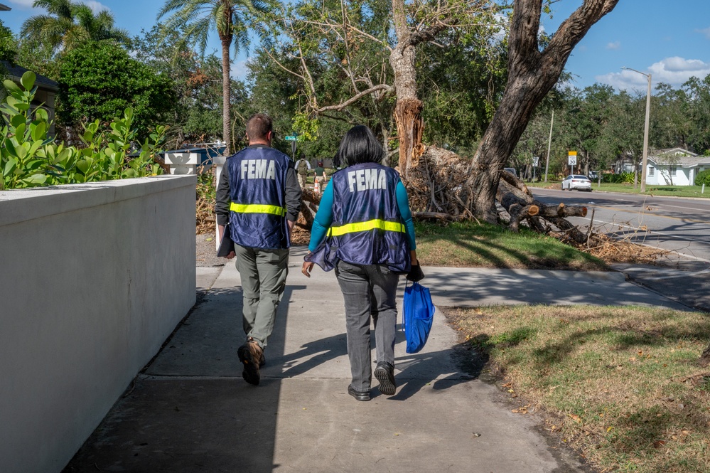
{"label": "navy FEMA vest with yellow stripe worn by the short-haired man", "polygon": [[245,148],[227,158],[230,174],[230,234],[237,245],[289,248],[286,223],[286,154],[267,146]]}

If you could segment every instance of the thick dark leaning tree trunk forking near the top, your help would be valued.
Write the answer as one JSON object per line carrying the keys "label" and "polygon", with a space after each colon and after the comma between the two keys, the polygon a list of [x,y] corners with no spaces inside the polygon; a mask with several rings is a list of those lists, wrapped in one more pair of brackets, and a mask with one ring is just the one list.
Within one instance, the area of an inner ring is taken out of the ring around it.
{"label": "thick dark leaning tree trunk forking near the top", "polygon": [[542,0],[515,0],[510,26],[508,83],[500,107],[483,134],[470,166],[473,213],[495,223],[500,173],[527,127],[535,107],[559,79],[574,46],[619,0],[584,0],[557,29],[544,52],[537,34]]}

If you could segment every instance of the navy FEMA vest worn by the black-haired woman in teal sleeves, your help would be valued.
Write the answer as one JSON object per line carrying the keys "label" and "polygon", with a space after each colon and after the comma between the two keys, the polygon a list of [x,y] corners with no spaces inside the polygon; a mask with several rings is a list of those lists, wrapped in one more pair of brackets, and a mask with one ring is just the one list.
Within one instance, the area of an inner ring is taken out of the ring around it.
{"label": "navy FEMA vest worn by the black-haired woman in teal sleeves", "polygon": [[333,222],[328,230],[333,260],[409,272],[409,241],[397,206],[397,183],[397,171],[375,163],[355,164],[333,174]]}

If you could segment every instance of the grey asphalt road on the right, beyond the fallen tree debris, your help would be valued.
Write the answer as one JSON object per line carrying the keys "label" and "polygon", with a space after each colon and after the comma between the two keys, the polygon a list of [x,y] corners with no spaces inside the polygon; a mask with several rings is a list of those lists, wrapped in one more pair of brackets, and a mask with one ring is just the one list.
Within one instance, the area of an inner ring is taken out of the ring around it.
{"label": "grey asphalt road on the right, beyond the fallen tree debris", "polygon": [[619,238],[672,250],[657,265],[614,265],[628,280],[687,307],[710,312],[710,199],[530,188],[541,202],[586,206],[585,218],[569,220]]}

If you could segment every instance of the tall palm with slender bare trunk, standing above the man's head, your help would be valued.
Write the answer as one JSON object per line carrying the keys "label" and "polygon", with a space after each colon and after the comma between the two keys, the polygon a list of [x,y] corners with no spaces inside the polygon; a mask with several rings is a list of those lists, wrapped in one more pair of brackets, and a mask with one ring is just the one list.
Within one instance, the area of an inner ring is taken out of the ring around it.
{"label": "tall palm with slender bare trunk, standing above the man's head", "polygon": [[217,31],[222,43],[222,139],[229,154],[230,133],[230,50],[235,53],[249,46],[248,31],[259,26],[258,16],[267,11],[269,0],[166,0],[158,20],[170,14],[163,25],[168,31],[183,31],[182,41],[196,45],[205,54],[211,31]]}

